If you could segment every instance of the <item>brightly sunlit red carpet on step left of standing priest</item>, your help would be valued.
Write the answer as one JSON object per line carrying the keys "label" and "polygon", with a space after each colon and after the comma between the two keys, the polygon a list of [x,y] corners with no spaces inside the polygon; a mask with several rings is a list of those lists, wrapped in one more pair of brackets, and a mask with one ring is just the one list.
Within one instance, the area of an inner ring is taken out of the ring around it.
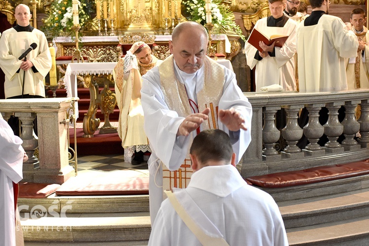
{"label": "brightly sunlit red carpet on step left of standing priest", "polygon": [[[130,176],[125,174],[129,173]],[[139,175],[140,177],[133,177]],[[132,170],[77,175],[67,180],[56,195],[147,195],[149,177]]]}

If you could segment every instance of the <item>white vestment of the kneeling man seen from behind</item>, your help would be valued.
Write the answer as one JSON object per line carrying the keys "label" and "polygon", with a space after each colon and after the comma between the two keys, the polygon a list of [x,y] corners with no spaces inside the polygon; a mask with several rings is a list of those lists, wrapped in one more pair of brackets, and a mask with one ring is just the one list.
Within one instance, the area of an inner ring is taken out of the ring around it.
{"label": "white vestment of the kneeling man seen from behind", "polygon": [[[182,197],[183,192],[190,198]],[[216,233],[199,220],[202,213],[231,246],[288,246],[282,216],[272,196],[246,184],[232,165],[203,167],[192,175],[187,188],[176,189],[174,194],[206,234]],[[163,201],[151,231],[149,246],[156,245],[201,245],[168,199]]]}

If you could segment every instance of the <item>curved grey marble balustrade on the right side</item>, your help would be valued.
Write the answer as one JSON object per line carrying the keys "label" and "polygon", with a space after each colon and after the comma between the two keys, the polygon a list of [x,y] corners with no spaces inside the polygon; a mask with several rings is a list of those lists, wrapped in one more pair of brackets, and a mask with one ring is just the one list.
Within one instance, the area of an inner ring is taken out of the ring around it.
{"label": "curved grey marble balustrade on the right side", "polygon": [[[252,104],[251,143],[238,168],[243,177],[263,175],[309,167],[334,165],[369,158],[369,90],[348,92],[245,92]],[[355,108],[361,105],[357,120]],[[344,120],[338,121],[338,109],[344,107]],[[300,127],[299,114],[308,112],[308,123]],[[319,111],[328,109],[328,121],[319,123]],[[285,111],[286,126],[277,129],[277,111]],[[359,132],[359,134],[357,134]],[[344,139],[339,143],[338,137]],[[325,134],[325,146],[317,144]],[[306,136],[308,145],[297,146]],[[358,137],[359,136],[359,137]],[[281,145],[284,142],[284,145]],[[276,146],[281,147],[280,151]]]}

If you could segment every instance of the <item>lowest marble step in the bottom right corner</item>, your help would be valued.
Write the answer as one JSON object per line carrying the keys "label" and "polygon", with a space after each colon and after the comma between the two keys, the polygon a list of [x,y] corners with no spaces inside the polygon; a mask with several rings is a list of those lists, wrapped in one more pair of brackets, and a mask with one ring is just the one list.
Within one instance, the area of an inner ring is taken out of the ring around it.
{"label": "lowest marble step in the bottom right corner", "polygon": [[290,246],[368,246],[369,216],[286,231]]}

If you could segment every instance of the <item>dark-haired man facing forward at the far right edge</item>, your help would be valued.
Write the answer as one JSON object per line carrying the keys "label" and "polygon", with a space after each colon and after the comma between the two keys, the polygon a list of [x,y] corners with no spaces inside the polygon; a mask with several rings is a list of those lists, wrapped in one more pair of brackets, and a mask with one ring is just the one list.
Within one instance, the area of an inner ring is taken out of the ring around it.
{"label": "dark-haired man facing forward at the far right edge", "polygon": [[[368,89],[369,88],[369,32],[364,26],[367,23],[365,11],[362,8],[355,8],[351,11],[350,23],[352,31],[359,40],[357,57],[348,60],[346,67],[348,90]],[[368,61],[368,62],[367,62]]]}

